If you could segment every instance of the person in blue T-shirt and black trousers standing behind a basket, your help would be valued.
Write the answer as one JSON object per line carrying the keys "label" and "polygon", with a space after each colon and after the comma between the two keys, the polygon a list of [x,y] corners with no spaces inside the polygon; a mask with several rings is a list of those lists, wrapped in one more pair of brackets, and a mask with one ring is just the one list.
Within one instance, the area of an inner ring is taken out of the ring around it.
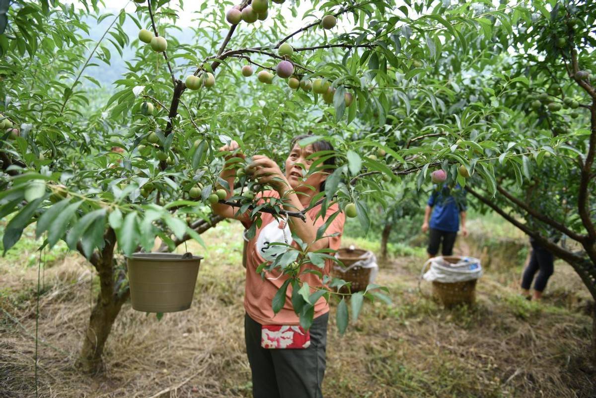
{"label": "person in blue T-shirt and black trousers standing behind a basket", "polygon": [[468,234],[465,229],[465,209],[465,192],[460,185],[456,185],[453,192],[447,185],[440,189],[438,186],[434,186],[422,224],[422,232],[426,233],[430,229],[429,247],[427,248],[429,257],[434,257],[439,253],[439,245],[442,245],[443,256],[453,254],[457,231],[460,230],[460,217],[461,233],[464,237]]}

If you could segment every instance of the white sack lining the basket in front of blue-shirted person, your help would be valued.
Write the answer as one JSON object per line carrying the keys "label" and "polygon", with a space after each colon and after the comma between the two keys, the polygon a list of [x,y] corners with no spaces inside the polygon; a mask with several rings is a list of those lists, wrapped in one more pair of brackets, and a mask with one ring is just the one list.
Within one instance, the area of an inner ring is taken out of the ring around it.
{"label": "white sack lining the basket in front of blue-shirted person", "polygon": [[449,256],[458,258],[457,263],[450,263],[443,257],[433,257],[424,263],[424,269],[430,262],[430,269],[424,273],[425,281],[437,281],[443,283],[465,282],[478,279],[482,276],[480,260],[474,257]]}

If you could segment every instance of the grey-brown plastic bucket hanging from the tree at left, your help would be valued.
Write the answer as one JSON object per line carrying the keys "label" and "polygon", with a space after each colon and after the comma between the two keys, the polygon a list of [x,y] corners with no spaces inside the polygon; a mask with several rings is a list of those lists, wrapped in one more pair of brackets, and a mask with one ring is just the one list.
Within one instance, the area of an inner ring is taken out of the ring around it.
{"label": "grey-brown plastic bucket hanging from the tree at left", "polygon": [[126,256],[132,308],[176,312],[190,308],[203,257],[190,253],[134,253]]}

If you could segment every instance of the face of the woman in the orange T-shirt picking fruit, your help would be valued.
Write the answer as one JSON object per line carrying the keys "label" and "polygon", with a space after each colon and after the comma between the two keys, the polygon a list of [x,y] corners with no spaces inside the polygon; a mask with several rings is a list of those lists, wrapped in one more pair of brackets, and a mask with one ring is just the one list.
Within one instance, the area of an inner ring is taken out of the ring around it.
{"label": "face of the woman in the orange T-shirt picking fruit", "polygon": [[[312,145],[301,148],[300,145],[295,144],[290,151],[288,158],[285,160],[285,178],[290,182],[292,189],[311,191],[308,185],[312,185],[318,190],[321,182],[327,178],[327,173],[321,170],[312,173],[306,180],[303,180],[303,176],[306,176],[312,162],[316,160],[316,158],[308,158],[313,153],[315,153],[315,149]],[[297,189],[299,187],[302,189]]]}

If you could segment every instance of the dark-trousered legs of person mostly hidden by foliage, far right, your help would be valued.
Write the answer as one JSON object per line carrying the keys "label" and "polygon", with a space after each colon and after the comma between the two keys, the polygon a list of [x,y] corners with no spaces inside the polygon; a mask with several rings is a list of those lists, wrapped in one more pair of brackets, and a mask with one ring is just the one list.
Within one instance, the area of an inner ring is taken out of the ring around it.
{"label": "dark-trousered legs of person mostly hidden by foliage, far right", "polygon": [[[532,252],[530,253],[530,262],[522,276],[522,292],[527,298],[530,298],[530,286],[534,281],[534,293],[532,300],[540,300],[542,292],[547,287],[548,278],[554,272],[554,256],[550,251],[539,245],[533,238],[530,238]],[[538,275],[536,275],[538,272]],[[534,276],[536,275],[536,278]]]}

